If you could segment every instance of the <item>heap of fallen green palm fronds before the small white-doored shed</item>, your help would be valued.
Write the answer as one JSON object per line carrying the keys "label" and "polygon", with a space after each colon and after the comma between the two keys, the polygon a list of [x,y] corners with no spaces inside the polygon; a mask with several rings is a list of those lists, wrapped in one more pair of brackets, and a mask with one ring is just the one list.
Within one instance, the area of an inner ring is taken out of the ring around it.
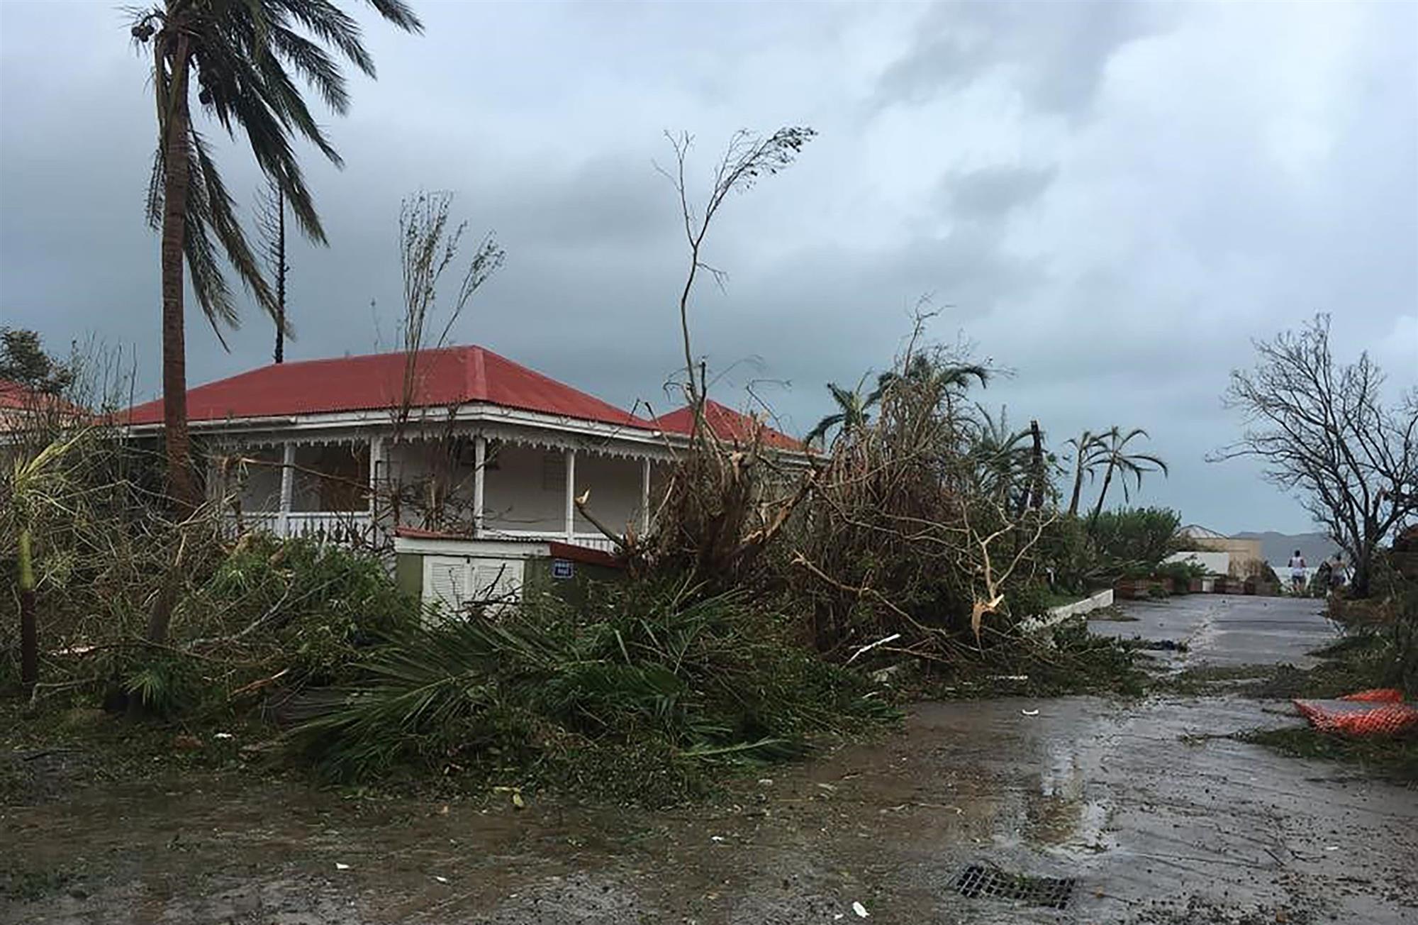
{"label": "heap of fallen green palm fronds before the small white-doored shed", "polygon": [[292,738],[337,779],[398,765],[559,777],[586,752],[662,756],[625,770],[634,780],[800,755],[815,735],[888,712],[864,680],[788,641],[780,617],[742,594],[692,592],[634,585],[579,614],[529,603],[401,634]]}

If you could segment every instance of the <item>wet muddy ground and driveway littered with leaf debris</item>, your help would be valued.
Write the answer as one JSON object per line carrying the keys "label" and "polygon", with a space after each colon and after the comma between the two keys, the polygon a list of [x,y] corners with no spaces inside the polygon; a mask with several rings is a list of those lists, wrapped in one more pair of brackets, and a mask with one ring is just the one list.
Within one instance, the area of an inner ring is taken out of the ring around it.
{"label": "wet muddy ground and driveway littered with leaf debris", "polygon": [[[1310,602],[1127,613],[1095,630],[1184,640],[1173,667],[1300,663],[1333,637]],[[1293,722],[1239,697],[922,704],[899,733],[671,813],[218,776],[79,789],[0,809],[0,921],[795,925],[856,921],[854,902],[903,924],[1418,921],[1418,792],[1227,738]],[[971,864],[1072,878],[1072,898],[967,898]]]}

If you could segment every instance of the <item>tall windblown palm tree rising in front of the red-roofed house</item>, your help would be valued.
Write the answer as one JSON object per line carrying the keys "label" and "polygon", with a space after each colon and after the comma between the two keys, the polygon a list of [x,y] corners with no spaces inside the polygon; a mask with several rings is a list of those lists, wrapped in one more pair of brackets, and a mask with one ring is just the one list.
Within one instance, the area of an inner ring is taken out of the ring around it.
{"label": "tall windblown palm tree rising in front of the red-roofed house", "polygon": [[[369,4],[398,28],[423,30],[403,0]],[[360,41],[359,24],[330,0],[162,0],[135,13],[130,33],[139,44],[152,45],[157,152],[147,221],[162,233],[163,437],[169,489],[180,509],[190,509],[200,495],[187,438],[183,261],[218,338],[221,325],[237,323],[218,247],[261,306],[275,315],[275,298],[237,221],[231,194],[207,140],[193,125],[191,75],[197,75],[201,111],[228,135],[241,128],[261,172],[279,187],[301,230],[325,241],[292,139],[305,138],[332,163],[342,162],[292,75],[343,113],[349,108],[345,77],[326,47],[370,77],[374,62]]]}

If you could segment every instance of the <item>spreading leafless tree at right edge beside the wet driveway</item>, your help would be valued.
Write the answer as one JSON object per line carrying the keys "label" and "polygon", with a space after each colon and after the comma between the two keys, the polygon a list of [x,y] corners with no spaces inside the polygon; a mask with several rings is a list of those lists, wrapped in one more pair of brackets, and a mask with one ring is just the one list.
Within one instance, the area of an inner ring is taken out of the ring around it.
{"label": "spreading leafless tree at right edge beside the wet driveway", "polygon": [[1255,457],[1271,482],[1299,492],[1367,596],[1378,543],[1418,512],[1418,389],[1388,407],[1368,353],[1336,365],[1329,335],[1329,315],[1316,315],[1255,343],[1255,369],[1234,370],[1224,394],[1245,414],[1245,434],[1211,458]]}

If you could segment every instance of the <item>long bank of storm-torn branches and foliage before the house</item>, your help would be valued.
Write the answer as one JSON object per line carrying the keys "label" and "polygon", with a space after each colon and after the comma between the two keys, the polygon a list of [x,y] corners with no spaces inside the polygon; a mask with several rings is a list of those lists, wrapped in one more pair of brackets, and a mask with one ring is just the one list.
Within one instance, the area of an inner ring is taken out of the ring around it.
{"label": "long bank of storm-torn branches and foliage before the house", "polygon": [[[102,707],[157,766],[665,803],[912,697],[1139,691],[1124,644],[1024,630],[1064,590],[1051,572],[1086,586],[1122,567],[1115,515],[1056,512],[1042,445],[991,437],[970,369],[913,342],[875,419],[805,462],[696,434],[657,528],[620,538],[624,585],[516,611],[430,613],[379,550],[242,532],[221,498],[176,519],[147,451],[57,427],[34,445],[64,453],[6,509],[38,576],[21,738],[104,741],[84,712]],[[20,688],[17,640],[0,641],[0,682]]]}

